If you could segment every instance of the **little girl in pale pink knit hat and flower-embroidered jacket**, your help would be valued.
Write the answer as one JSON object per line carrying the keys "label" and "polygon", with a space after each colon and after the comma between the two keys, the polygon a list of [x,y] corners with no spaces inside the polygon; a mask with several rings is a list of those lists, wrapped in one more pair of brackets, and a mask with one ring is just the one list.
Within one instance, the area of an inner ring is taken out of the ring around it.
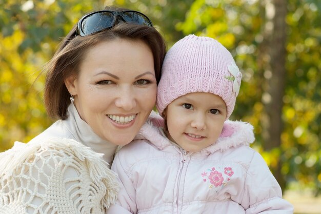
{"label": "little girl in pale pink knit hat and flower-embroidered jacket", "polygon": [[253,127],[228,120],[241,78],[213,38],[189,35],[168,51],[156,103],[164,128],[148,121],[117,153],[123,187],[108,213],[293,213],[249,147]]}

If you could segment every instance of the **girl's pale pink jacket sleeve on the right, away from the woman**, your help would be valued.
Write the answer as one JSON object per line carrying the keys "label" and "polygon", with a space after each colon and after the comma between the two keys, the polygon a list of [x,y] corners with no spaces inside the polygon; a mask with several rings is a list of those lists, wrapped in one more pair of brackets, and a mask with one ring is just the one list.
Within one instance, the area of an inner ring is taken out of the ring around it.
{"label": "girl's pale pink jacket sleeve on the right, away from the woman", "polygon": [[282,190],[262,156],[254,152],[247,171],[241,205],[246,214],[292,214],[293,206],[282,199]]}

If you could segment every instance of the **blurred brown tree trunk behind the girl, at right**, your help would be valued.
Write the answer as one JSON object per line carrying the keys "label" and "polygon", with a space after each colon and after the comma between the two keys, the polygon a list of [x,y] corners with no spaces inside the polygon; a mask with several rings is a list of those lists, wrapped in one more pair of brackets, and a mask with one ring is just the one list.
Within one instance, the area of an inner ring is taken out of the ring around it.
{"label": "blurred brown tree trunk behind the girl, at right", "polygon": [[[268,116],[268,133],[265,141],[265,149],[267,151],[281,146],[281,134],[283,131],[282,108],[283,96],[285,94],[286,84],[286,14],[287,1],[273,0],[272,4],[275,8],[273,17],[273,29],[271,32],[271,40],[269,45],[270,68],[272,75],[268,79],[267,93],[271,98],[266,103],[266,113]],[[282,151],[282,150],[281,150]],[[285,180],[281,174],[282,162],[279,159],[277,167],[271,170],[279,182],[281,187],[285,187]]]}

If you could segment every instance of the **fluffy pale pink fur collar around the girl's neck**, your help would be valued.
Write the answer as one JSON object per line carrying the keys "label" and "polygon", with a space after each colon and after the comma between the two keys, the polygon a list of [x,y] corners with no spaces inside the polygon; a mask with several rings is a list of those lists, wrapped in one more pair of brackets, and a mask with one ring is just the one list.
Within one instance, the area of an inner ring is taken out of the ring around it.
{"label": "fluffy pale pink fur collar around the girl's neck", "polygon": [[[172,143],[162,134],[160,123],[149,119],[136,135],[135,139],[147,139],[159,149],[164,149]],[[254,142],[253,126],[242,121],[225,121],[222,133],[215,143],[202,149],[201,153],[213,153],[217,150],[225,151],[230,147],[240,145],[249,146]]]}

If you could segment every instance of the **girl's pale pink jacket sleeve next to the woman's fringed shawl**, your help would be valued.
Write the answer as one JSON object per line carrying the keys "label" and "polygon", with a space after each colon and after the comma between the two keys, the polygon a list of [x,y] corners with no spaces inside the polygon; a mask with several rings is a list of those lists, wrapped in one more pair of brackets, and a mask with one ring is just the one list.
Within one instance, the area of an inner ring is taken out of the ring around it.
{"label": "girl's pale pink jacket sleeve next to the woman's fringed shawl", "polygon": [[124,156],[127,155],[123,153],[123,150],[119,151],[111,166],[111,169],[118,174],[121,189],[118,192],[116,203],[107,210],[107,214],[137,213],[136,190],[133,180],[128,175],[129,167],[125,166],[126,160],[121,161],[122,158],[119,158]]}

